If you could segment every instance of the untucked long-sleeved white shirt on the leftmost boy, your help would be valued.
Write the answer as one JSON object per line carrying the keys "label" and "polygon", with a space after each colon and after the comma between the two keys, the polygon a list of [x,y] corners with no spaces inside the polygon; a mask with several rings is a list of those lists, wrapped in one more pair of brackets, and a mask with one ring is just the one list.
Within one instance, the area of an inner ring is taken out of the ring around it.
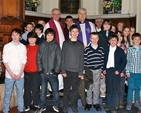
{"label": "untucked long-sleeved white shirt on the leftmost boy", "polygon": [[[3,63],[8,63],[11,71],[17,75],[20,73],[21,67],[23,64],[26,64],[26,47],[25,45],[19,43],[15,44],[14,42],[9,42],[4,46],[3,49]],[[6,70],[5,76],[11,78],[8,71]],[[21,78],[24,76],[22,74]]]}

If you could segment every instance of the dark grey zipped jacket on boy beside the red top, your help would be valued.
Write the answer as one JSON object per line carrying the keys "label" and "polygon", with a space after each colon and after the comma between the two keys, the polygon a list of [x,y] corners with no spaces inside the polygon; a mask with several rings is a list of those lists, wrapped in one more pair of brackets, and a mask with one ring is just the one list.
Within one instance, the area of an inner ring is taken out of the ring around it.
{"label": "dark grey zipped jacket on boy beside the red top", "polygon": [[39,72],[52,73],[54,70],[56,73],[60,72],[61,65],[61,49],[57,42],[44,41],[39,45],[37,52],[37,67]]}

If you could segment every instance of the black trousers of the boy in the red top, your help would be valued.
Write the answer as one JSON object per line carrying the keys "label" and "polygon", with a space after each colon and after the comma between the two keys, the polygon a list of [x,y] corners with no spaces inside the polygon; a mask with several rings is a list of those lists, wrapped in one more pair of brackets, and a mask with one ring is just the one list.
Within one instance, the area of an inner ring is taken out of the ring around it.
{"label": "black trousers of the boy in the red top", "polygon": [[38,72],[25,73],[25,81],[24,81],[24,105],[31,106],[33,101],[33,105],[39,104],[39,93],[40,93],[40,75]]}

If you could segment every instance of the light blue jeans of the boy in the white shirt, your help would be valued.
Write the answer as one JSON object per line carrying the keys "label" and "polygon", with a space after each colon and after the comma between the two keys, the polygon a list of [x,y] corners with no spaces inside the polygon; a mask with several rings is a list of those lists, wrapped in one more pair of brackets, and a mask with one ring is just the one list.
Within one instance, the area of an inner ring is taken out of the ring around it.
{"label": "light blue jeans of the boy in the white shirt", "polygon": [[16,86],[16,95],[18,101],[18,111],[24,111],[24,101],[23,101],[23,86],[24,77],[19,80],[13,80],[10,78],[5,78],[5,96],[4,96],[4,113],[9,113],[10,99],[12,95],[13,86]]}

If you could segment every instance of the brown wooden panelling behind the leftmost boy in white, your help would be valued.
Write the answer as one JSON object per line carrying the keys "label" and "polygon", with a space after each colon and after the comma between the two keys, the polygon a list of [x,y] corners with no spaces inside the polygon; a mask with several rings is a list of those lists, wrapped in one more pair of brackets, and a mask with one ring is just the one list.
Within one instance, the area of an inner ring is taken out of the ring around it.
{"label": "brown wooden panelling behind the leftmost boy in white", "polygon": [[[22,29],[25,18],[25,0],[0,0],[0,51],[10,41],[13,28]],[[4,76],[4,66],[2,65]]]}

